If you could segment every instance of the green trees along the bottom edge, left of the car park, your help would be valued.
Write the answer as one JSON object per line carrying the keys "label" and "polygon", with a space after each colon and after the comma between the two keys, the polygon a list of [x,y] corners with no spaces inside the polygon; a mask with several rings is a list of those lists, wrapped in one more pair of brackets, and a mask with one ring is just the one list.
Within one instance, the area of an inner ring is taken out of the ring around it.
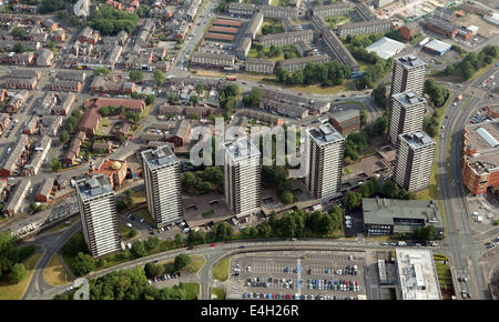
{"label": "green trees along the bottom edge, left of the car park", "polygon": [[[147,284],[144,269],[136,266],[125,271],[111,272],[91,280],[91,300],[185,300],[182,285],[156,289]],[[54,300],[72,300],[75,290],[58,294]]]}

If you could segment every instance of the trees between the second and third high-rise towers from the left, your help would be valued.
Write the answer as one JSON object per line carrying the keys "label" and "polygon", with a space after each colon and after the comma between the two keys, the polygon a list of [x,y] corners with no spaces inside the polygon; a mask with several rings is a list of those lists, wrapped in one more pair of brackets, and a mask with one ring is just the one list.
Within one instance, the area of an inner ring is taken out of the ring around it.
{"label": "trees between the second and third high-rise towers from the left", "polygon": [[206,167],[204,171],[195,174],[186,171],[181,175],[182,190],[191,194],[208,193],[213,190],[223,190],[224,173],[220,167]]}

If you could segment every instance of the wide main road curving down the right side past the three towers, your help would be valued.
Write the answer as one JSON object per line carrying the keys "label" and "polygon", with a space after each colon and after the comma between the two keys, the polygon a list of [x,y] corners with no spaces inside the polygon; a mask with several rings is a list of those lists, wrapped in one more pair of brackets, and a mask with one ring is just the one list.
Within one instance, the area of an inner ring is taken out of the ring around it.
{"label": "wide main road curving down the right side past the three towers", "polygon": [[[455,97],[464,94],[461,101],[464,105],[450,104],[447,109],[442,121],[441,133],[444,137],[438,142],[436,157],[438,187],[446,220],[445,243],[451,252],[454,272],[458,275],[469,276],[469,282],[465,285],[457,284],[456,290],[458,293],[466,290],[475,299],[489,299],[490,294],[479,264],[480,251],[473,243],[468,203],[462,185],[462,129],[467,124],[471,111],[487,102],[486,98],[478,97],[479,84],[497,71],[498,68],[492,67],[473,81],[465,84],[465,88],[451,88]],[[449,147],[450,154],[448,155]]]}

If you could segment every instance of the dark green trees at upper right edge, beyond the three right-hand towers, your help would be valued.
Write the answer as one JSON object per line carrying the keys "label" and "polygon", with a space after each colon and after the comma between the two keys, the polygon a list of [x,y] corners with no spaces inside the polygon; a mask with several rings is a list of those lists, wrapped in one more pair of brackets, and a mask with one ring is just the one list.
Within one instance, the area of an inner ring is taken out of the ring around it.
{"label": "dark green trees at upper right edge, beyond the three right-hand towers", "polygon": [[489,44],[483,47],[480,52],[469,52],[461,61],[446,67],[440,72],[444,76],[458,76],[462,80],[469,80],[479,69],[492,63],[499,56],[499,47]]}

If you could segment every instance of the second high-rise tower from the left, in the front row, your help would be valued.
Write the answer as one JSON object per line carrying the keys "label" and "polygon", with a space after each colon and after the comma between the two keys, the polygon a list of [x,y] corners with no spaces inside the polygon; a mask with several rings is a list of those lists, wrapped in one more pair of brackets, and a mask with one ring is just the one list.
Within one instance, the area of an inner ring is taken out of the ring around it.
{"label": "second high-rise tower from the left, in the front row", "polygon": [[143,151],[147,209],[157,227],[183,219],[180,161],[169,145]]}

